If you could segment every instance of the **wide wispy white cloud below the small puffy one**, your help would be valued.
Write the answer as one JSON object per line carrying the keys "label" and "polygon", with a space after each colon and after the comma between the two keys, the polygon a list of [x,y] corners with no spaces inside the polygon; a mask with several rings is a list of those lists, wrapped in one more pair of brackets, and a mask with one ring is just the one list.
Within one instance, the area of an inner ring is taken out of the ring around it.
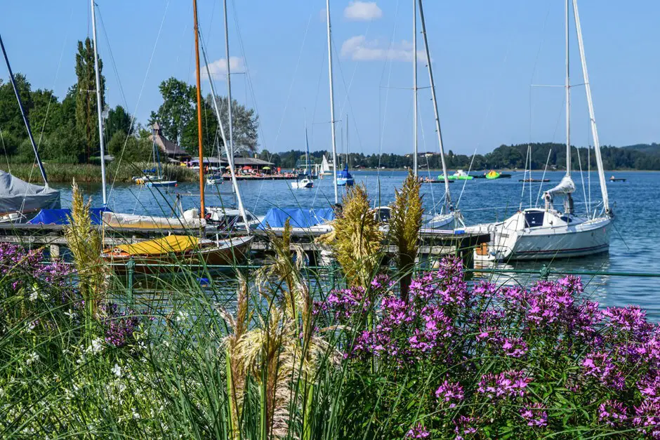
{"label": "wide wispy white cloud below the small puffy one", "polygon": [[[402,40],[397,43],[388,44],[386,41],[367,40],[364,35],[356,35],[343,42],[341,45],[341,56],[353,61],[405,61],[413,60],[412,43]],[[418,62],[425,62],[424,51],[417,51]]]}

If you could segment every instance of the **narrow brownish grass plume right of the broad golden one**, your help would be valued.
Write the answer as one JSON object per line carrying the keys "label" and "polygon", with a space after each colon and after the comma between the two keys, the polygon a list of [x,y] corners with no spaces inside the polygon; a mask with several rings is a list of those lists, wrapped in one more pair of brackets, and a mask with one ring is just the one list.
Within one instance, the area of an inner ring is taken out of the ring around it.
{"label": "narrow brownish grass plume right of the broad golden one", "polygon": [[405,302],[408,302],[408,290],[419,248],[419,229],[424,214],[420,187],[420,181],[409,171],[401,191],[395,189],[396,198],[392,203],[390,218],[390,241],[398,246],[397,266],[401,276],[401,298]]}

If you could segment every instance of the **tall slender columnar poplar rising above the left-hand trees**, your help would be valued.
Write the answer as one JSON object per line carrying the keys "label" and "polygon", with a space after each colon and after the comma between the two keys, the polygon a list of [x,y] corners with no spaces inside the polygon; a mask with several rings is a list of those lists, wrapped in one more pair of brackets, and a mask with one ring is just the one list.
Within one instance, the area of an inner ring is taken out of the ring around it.
{"label": "tall slender columnar poplar rising above the left-hand trees", "polygon": [[[103,62],[98,60],[98,70],[103,72]],[[76,95],[76,127],[87,146],[87,160],[99,150],[98,140],[98,105],[96,98],[96,74],[94,69],[94,50],[89,38],[85,43],[78,41],[76,54],[76,75],[78,93]],[[105,107],[105,78],[100,74],[101,108]]]}

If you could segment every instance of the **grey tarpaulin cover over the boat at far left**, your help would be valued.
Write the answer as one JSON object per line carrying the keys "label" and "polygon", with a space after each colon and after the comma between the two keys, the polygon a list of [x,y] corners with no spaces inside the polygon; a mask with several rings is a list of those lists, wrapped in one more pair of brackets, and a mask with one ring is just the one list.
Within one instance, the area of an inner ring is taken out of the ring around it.
{"label": "grey tarpaulin cover over the boat at far left", "polygon": [[60,192],[0,171],[0,215],[60,208]]}

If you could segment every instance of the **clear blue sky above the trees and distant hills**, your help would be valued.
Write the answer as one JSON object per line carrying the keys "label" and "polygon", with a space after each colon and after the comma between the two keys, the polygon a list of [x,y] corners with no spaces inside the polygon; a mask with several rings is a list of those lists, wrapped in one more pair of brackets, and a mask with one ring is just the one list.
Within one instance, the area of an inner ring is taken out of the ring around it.
{"label": "clear blue sky above the trees and distant hills", "polygon": [[[52,88],[62,98],[76,81],[76,41],[91,35],[88,1],[6,3],[0,32],[14,71],[27,74],[33,88]],[[124,105],[145,122],[161,103],[162,80],[176,76],[194,83],[192,1],[97,4],[107,102]],[[659,141],[660,3],[581,0],[579,7],[601,143]],[[325,1],[230,0],[229,10],[232,68],[239,72],[232,76],[232,91],[257,107],[260,147],[302,149],[306,116],[310,147],[329,149]],[[225,93],[221,13],[221,0],[199,0],[216,87]],[[560,0],[425,2],[447,149],[471,154],[502,143],[564,142],[562,89],[530,88],[563,84],[563,14]],[[412,1],[331,0],[331,17],[338,136],[345,135],[348,113],[352,152],[409,152]],[[571,36],[572,83],[581,84],[573,25]],[[6,76],[3,67],[0,78]],[[422,62],[418,77],[420,87],[428,86]],[[209,91],[207,81],[202,88]],[[572,103],[572,143],[586,145],[583,87],[572,88]],[[419,91],[419,111],[419,148],[437,151],[428,89]]]}

